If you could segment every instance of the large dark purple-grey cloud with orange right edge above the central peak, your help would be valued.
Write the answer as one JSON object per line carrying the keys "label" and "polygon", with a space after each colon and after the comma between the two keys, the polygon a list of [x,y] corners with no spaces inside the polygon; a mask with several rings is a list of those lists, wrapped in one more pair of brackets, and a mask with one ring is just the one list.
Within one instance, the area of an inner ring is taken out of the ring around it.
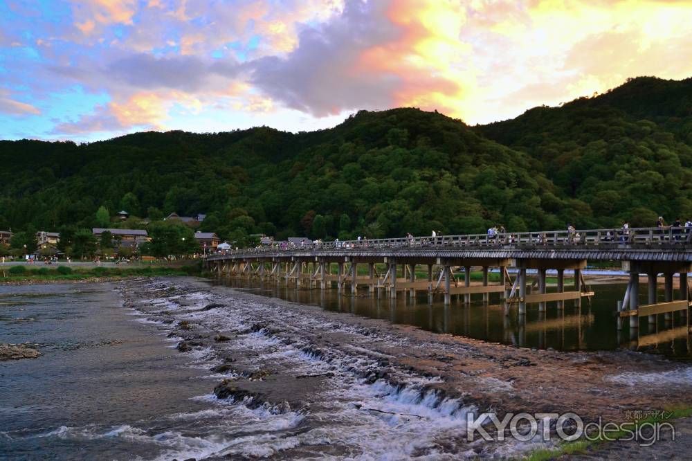
{"label": "large dark purple-grey cloud with orange right edge above the central peak", "polygon": [[381,21],[385,6],[385,2],[349,2],[327,24],[305,27],[298,35],[298,48],[286,57],[264,57],[251,64],[251,83],[287,107],[315,116],[392,106],[391,90],[401,78],[396,73],[357,69],[367,48],[401,34]]}

